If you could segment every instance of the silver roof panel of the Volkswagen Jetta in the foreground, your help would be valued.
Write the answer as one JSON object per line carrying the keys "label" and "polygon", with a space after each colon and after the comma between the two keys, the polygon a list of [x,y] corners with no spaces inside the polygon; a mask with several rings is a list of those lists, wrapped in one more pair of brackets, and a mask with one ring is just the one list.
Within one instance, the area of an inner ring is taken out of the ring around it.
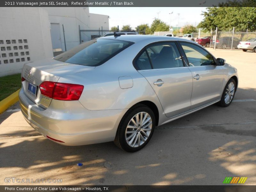
{"label": "silver roof panel of the Volkswagen Jetta in the foreground", "polygon": [[154,35],[121,35],[121,36],[106,36],[100,37],[99,39],[118,39],[123,41],[130,41],[138,43],[141,41],[148,42],[157,42],[157,41],[187,41],[192,42],[191,40],[181,39],[179,37],[168,37],[168,36],[154,36]]}

